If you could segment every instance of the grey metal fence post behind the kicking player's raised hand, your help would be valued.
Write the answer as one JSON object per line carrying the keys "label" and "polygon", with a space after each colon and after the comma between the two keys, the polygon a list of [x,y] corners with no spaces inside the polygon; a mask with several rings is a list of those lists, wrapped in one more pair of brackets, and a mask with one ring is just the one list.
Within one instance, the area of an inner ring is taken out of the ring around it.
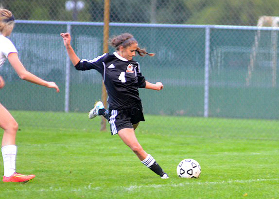
{"label": "grey metal fence post behind the kicking player's raised hand", "polygon": [[[71,24],[67,24],[67,32],[71,33]],[[65,71],[65,112],[69,112],[69,94],[70,94],[70,57],[66,56],[66,71]]]}

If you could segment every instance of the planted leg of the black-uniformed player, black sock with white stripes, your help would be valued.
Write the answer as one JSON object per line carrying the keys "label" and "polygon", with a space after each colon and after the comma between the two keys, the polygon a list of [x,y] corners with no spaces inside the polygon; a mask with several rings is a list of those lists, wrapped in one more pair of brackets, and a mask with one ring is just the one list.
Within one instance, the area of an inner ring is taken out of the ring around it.
{"label": "planted leg of the black-uniformed player, black sock with white stripes", "polygon": [[155,161],[155,159],[147,154],[142,146],[137,141],[135,131],[133,128],[123,128],[118,131],[118,135],[121,140],[132,149],[132,151],[137,155],[139,160],[147,166],[149,169],[154,171],[156,174],[161,176],[163,179],[167,179],[168,175],[163,171],[163,169],[159,166],[159,164]]}

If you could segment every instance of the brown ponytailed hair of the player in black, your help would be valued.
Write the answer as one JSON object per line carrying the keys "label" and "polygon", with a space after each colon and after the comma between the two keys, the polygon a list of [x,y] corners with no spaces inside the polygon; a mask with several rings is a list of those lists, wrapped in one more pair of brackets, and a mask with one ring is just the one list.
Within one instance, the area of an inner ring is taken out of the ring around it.
{"label": "brown ponytailed hair of the player in black", "polygon": [[[112,47],[115,47],[116,50],[119,50],[120,46],[123,46],[124,48],[126,48],[127,46],[131,46],[133,43],[137,43],[137,40],[135,40],[134,36],[131,35],[130,33],[122,33],[121,35],[114,36],[110,40],[110,45]],[[155,53],[148,53],[145,51],[145,49],[141,49],[139,47],[137,47],[136,52],[140,56],[144,56],[145,54],[147,54],[149,56],[155,55]]]}

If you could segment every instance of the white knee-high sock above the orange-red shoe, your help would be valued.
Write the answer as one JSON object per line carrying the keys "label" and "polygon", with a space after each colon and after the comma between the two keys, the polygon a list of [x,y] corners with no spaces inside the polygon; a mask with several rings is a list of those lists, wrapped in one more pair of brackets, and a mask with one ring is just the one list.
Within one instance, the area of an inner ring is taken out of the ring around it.
{"label": "white knee-high sock above the orange-red shoe", "polygon": [[10,177],[16,171],[16,145],[1,148],[4,162],[4,176]]}

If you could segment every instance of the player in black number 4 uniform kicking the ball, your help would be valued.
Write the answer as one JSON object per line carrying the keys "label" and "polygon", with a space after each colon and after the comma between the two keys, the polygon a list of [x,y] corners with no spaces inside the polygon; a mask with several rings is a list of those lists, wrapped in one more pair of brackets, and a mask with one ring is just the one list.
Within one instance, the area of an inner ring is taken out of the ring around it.
{"label": "player in black number 4 uniform kicking the ball", "polygon": [[116,49],[113,54],[105,53],[90,60],[80,59],[70,45],[70,34],[61,33],[60,35],[77,70],[96,69],[102,74],[109,96],[109,110],[107,111],[103,107],[102,102],[98,102],[90,111],[89,118],[104,115],[109,120],[111,134],[118,134],[144,165],[162,179],[167,179],[168,175],[155,159],[143,150],[134,131],[139,122],[144,121],[138,88],[161,90],[164,86],[161,82],[152,84],[145,81],[140,72],[139,63],[135,62],[133,57],[136,52],[141,56],[145,54],[153,56],[154,54],[140,49],[133,35],[124,33],[111,40],[111,45]]}

